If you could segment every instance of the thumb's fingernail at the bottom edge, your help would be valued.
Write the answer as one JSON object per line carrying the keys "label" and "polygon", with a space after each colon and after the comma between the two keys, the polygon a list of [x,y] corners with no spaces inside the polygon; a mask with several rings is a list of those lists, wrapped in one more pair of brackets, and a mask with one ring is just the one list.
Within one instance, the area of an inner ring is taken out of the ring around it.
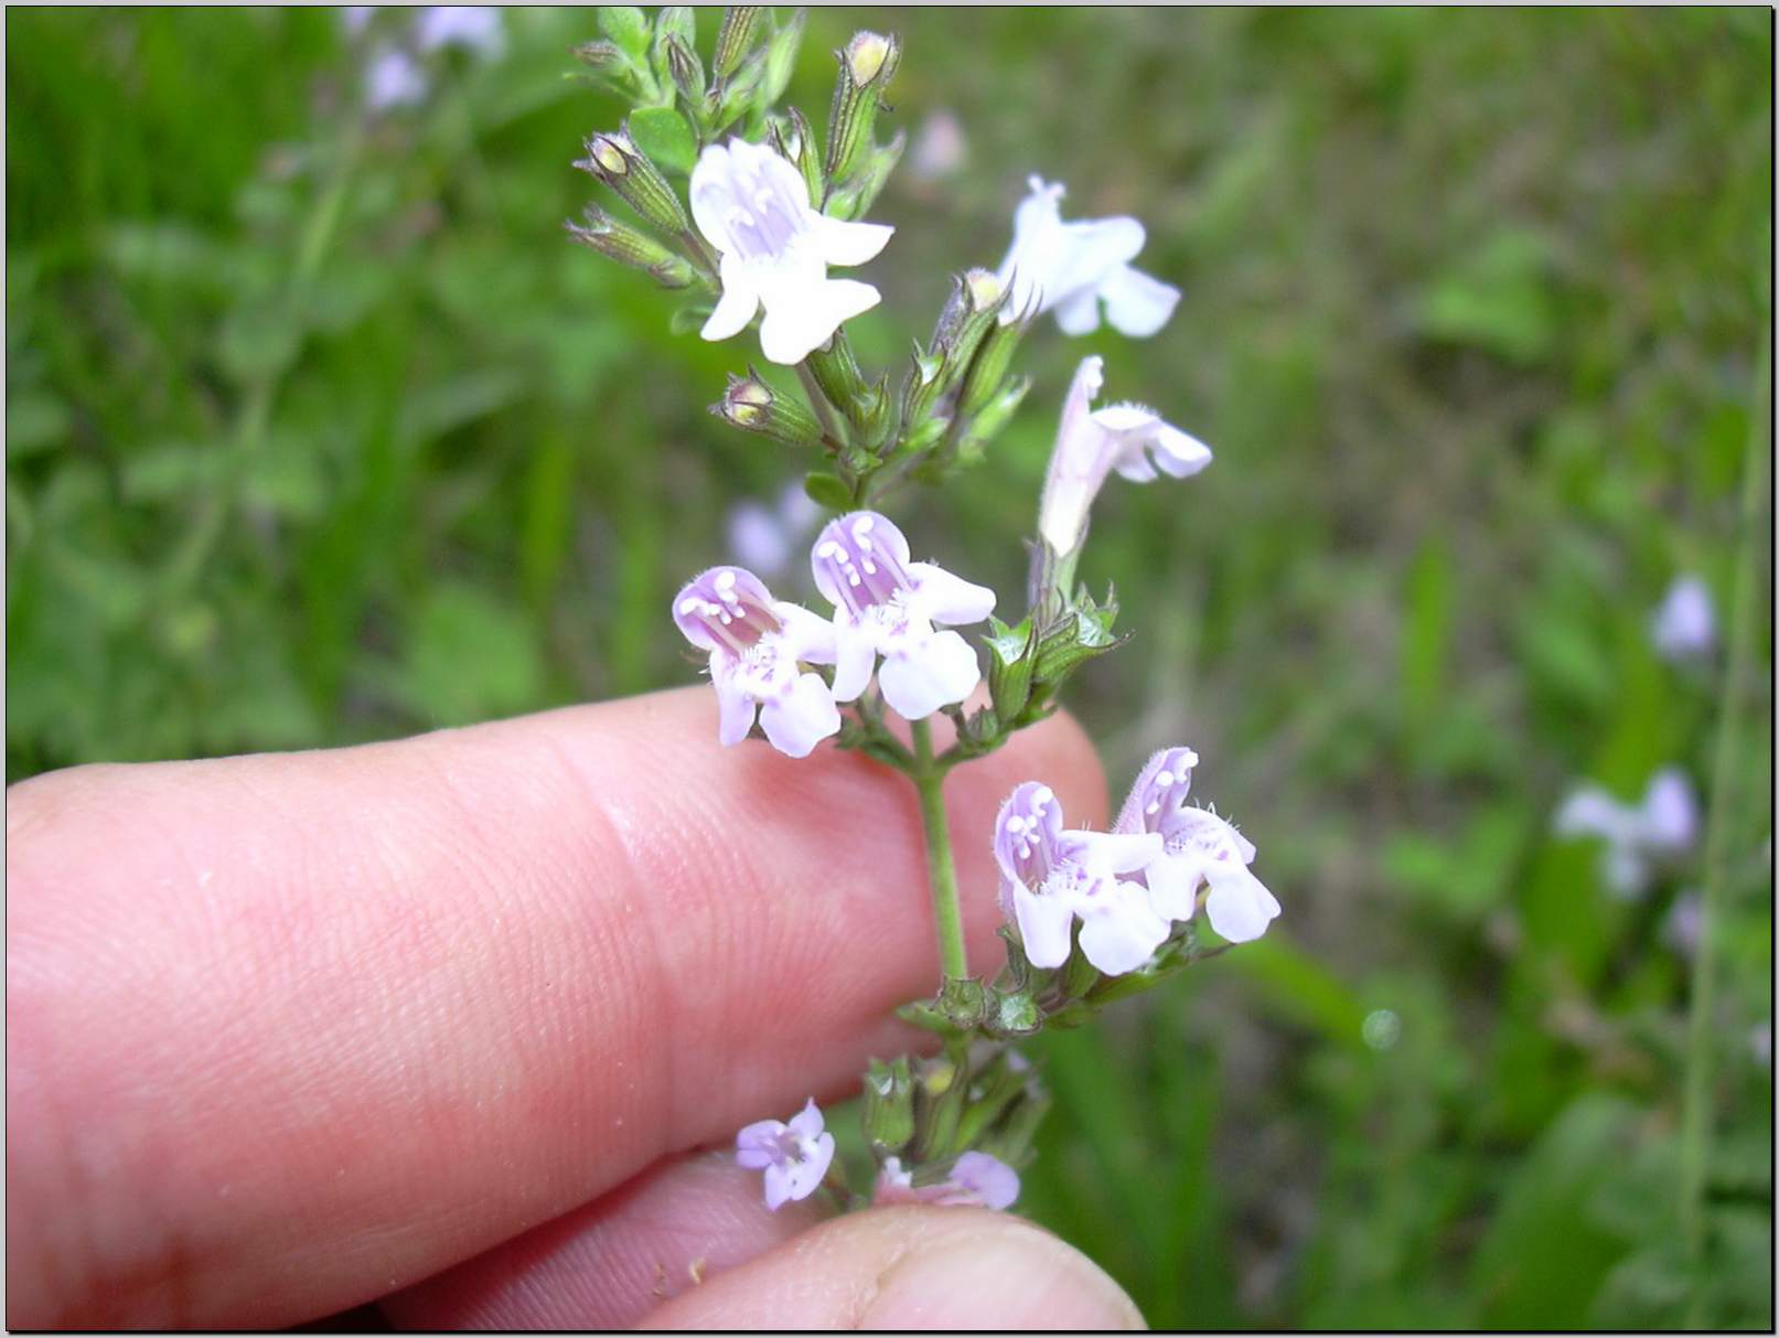
{"label": "thumb's fingernail at the bottom edge", "polygon": [[[962,1210],[952,1210],[962,1212]],[[923,1240],[879,1279],[861,1329],[1144,1329],[1142,1313],[1092,1260],[1035,1226]]]}

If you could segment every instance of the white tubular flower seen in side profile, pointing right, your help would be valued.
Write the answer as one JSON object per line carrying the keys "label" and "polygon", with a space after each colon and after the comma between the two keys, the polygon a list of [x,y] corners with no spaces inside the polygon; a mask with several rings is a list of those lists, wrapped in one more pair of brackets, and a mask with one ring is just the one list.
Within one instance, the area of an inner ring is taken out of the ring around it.
{"label": "white tubular flower seen in side profile, pointing right", "polygon": [[1211,463],[1210,447],[1163,423],[1155,409],[1140,404],[1096,409],[1094,397],[1103,379],[1105,363],[1083,358],[1062,406],[1057,445],[1050,452],[1037,532],[1059,555],[1073,553],[1087,537],[1087,512],[1112,470],[1146,484],[1156,477],[1156,470],[1174,479],[1190,479]]}

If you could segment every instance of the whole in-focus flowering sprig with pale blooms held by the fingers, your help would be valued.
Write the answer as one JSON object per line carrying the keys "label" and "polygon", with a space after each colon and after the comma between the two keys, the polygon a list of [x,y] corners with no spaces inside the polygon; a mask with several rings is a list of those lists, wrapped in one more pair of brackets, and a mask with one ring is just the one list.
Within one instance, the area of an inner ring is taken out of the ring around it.
{"label": "whole in-focus flowering sprig with pale blooms held by the fingers", "polygon": [[[1179,290],[1133,265],[1146,242],[1137,219],[1066,221],[1064,187],[1032,176],[998,269],[952,276],[930,336],[914,342],[893,388],[888,372],[859,363],[847,334],[849,322],[881,306],[877,286],[829,270],[873,262],[897,233],[866,221],[906,139],[877,139],[902,57],[897,39],[859,32],[836,52],[818,135],[802,110],[777,107],[802,11],[781,21],[763,7],[728,9],[708,64],[688,7],[653,20],[607,7],[600,25],[601,39],[576,55],[630,114],[589,135],[576,167],[628,214],[594,205],[569,233],[676,294],[676,329],[710,342],[758,329],[767,370],[793,368],[795,388],[747,367],[729,374],[712,413],[813,454],[802,496],[831,514],[808,550],[825,610],[776,598],[761,580],[785,589],[799,536],[815,525],[786,504],[738,507],[731,544],[745,566],[713,566],[674,596],[674,625],[708,660],[717,737],[740,744],[758,726],[792,758],[831,738],[900,770],[920,797],[941,987],[898,1014],[936,1034],[941,1052],[872,1060],[861,1124],[875,1171],[850,1203],[1007,1208],[1048,1105],[1041,1075],[1010,1043],[1085,1020],[1201,959],[1203,922],[1224,943],[1245,943],[1279,915],[1251,870],[1254,845],[1187,802],[1197,765],[1187,747],[1149,760],[1110,831],[1067,827],[1057,792],[1032,779],[991,833],[962,836],[991,847],[1000,870],[1009,923],[996,975],[970,970],[962,936],[962,899],[987,888],[959,888],[950,856],[946,774],[1042,721],[1080,665],[1121,644],[1115,600],[1096,601],[1075,580],[1099,489],[1112,473],[1187,479],[1211,452],[1156,409],[1096,404],[1105,363],[1082,359],[1035,507],[1026,607],[1009,623],[994,617],[993,589],[914,560],[882,498],[987,459],[1032,388],[1014,356],[1041,315],[1064,334],[1105,320],[1147,338],[1167,324]],[[945,155],[923,141],[918,157],[936,164]],[[946,169],[927,171],[930,185]],[[986,633],[966,633],[982,623]],[[943,751],[930,726],[938,713],[952,726]],[[763,1173],[769,1208],[847,1181],[813,1101],[788,1121],[744,1128],[735,1157]]]}

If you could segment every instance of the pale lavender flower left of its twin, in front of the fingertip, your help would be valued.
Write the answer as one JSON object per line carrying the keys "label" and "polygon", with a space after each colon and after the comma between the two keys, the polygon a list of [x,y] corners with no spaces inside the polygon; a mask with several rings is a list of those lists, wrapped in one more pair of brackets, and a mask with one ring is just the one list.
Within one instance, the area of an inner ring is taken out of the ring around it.
{"label": "pale lavender flower left of its twin, in front of the fingertip", "polygon": [[1107,975],[1142,966],[1169,925],[1149,904],[1149,890],[1130,881],[1163,850],[1155,833],[1064,831],[1062,802],[1048,785],[1026,781],[994,820],[1000,900],[1034,966],[1069,959],[1073,922],[1082,952]]}

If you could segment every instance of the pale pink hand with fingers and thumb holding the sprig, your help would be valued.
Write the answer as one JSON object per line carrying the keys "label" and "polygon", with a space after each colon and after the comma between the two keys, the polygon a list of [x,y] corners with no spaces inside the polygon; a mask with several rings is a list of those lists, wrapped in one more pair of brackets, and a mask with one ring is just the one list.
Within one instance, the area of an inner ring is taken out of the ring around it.
{"label": "pale pink hand with fingers and thumb holding the sprig", "polygon": [[[952,776],[973,961],[1034,776],[1105,826],[1067,719]],[[7,1326],[1140,1324],[1012,1215],[769,1213],[720,1151],[934,973],[914,792],[724,749],[708,689],[20,783]]]}

